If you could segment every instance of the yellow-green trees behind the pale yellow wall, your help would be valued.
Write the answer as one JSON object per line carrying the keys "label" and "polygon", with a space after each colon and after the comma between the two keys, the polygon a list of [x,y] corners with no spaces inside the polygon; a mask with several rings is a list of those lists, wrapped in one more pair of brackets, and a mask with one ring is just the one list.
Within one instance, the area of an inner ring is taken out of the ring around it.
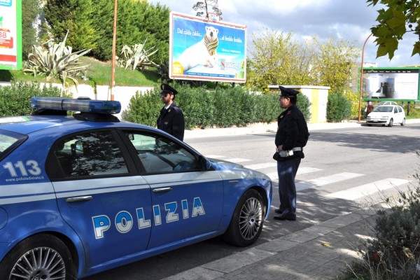
{"label": "yellow-green trees behind the pale yellow wall", "polygon": [[246,86],[267,92],[268,85],[321,85],[345,92],[359,56],[355,43],[312,37],[301,43],[293,33],[266,31],[253,39]]}

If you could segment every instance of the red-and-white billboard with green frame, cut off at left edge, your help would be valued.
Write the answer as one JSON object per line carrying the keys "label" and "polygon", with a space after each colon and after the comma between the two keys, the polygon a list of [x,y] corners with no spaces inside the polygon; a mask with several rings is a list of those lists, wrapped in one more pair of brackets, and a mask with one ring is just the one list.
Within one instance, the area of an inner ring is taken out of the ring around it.
{"label": "red-and-white billboard with green frame, cut off at left edge", "polygon": [[22,68],[22,0],[0,0],[0,69]]}

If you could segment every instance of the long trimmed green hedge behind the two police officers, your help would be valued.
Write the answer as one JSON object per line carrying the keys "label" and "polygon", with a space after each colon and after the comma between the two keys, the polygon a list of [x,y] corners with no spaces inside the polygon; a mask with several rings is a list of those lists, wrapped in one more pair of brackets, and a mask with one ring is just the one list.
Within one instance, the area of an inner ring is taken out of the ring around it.
{"label": "long trimmed green hedge behind the two police officers", "polygon": [[[279,116],[278,94],[255,94],[244,87],[190,87],[190,85],[172,85],[179,92],[175,103],[182,109],[186,128],[195,127],[244,127],[251,123],[271,123]],[[309,99],[298,95],[297,106],[309,120]],[[156,126],[156,119],[162,108],[160,89],[144,94],[137,93],[130,100],[130,105],[123,118],[125,120]]]}

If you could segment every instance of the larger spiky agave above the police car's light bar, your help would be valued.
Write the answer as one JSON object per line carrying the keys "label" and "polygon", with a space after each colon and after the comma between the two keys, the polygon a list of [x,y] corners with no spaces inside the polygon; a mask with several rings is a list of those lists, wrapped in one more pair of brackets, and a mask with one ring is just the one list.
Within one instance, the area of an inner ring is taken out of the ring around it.
{"label": "larger spiky agave above the police car's light bar", "polygon": [[78,59],[90,52],[91,49],[79,50],[72,52],[71,46],[66,46],[66,39],[69,31],[67,31],[64,40],[55,43],[52,39],[43,43],[43,45],[33,45],[32,52],[28,55],[28,61],[23,69],[25,73],[33,73],[36,75],[47,76],[47,81],[51,78],[59,78],[63,82],[63,88],[66,85],[66,79],[69,78],[78,86],[76,76],[78,73],[85,71],[88,64],[78,62]]}

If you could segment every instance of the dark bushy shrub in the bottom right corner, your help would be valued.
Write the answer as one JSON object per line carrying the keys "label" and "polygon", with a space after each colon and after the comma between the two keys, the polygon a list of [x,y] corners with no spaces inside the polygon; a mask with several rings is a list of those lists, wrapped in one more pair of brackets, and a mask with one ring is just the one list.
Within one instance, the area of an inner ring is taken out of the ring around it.
{"label": "dark bushy shrub in the bottom right corner", "polygon": [[[375,238],[358,250],[363,260],[353,262],[340,279],[419,279],[420,175],[418,185],[399,197],[386,198],[377,211]],[[356,276],[356,278],[355,278]]]}

